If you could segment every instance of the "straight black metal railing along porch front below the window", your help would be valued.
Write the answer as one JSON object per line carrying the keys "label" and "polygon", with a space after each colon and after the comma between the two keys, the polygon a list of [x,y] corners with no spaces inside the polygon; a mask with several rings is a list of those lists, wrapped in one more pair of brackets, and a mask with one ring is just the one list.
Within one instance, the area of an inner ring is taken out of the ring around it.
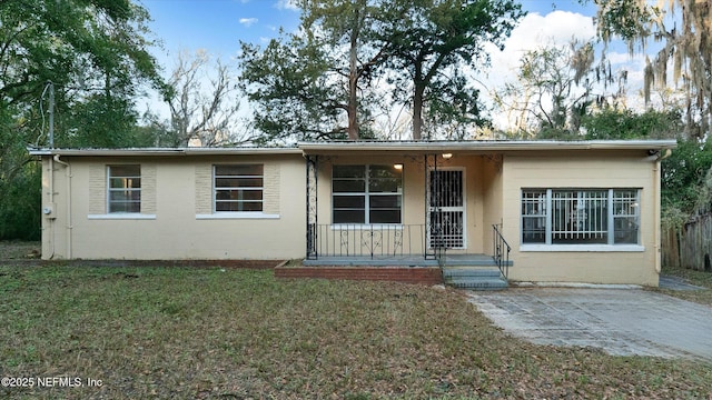
{"label": "straight black metal railing along porch front below the window", "polygon": [[425,224],[318,224],[307,236],[316,258],[426,256]]}

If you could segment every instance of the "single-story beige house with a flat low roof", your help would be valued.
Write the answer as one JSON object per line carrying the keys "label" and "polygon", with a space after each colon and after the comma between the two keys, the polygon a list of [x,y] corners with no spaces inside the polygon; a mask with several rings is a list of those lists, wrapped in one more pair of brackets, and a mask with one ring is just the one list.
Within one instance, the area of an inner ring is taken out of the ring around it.
{"label": "single-story beige house with a flat low roof", "polygon": [[357,141],[30,149],[42,258],[303,259],[312,270],[494,260],[510,280],[657,286],[675,141]]}

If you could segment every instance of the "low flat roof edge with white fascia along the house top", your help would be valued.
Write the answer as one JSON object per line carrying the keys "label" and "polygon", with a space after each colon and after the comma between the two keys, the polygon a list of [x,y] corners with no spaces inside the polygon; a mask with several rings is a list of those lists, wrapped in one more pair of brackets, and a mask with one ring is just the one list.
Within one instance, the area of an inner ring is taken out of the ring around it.
{"label": "low flat roof edge with white fascia along the house top", "polygon": [[126,148],[126,149],[38,149],[31,156],[121,157],[121,156],[248,156],[248,154],[332,154],[344,152],[459,152],[491,153],[560,150],[670,150],[675,140],[474,140],[474,141],[319,141],[299,142],[296,147],[236,148]]}

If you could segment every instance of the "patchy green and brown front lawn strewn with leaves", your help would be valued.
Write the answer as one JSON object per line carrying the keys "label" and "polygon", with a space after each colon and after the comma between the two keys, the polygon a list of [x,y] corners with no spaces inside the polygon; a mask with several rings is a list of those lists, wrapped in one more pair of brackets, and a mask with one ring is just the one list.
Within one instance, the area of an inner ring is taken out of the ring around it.
{"label": "patchy green and brown front lawn strewn with leaves", "polygon": [[710,364],[538,347],[422,286],[269,270],[0,267],[9,398],[704,398]]}

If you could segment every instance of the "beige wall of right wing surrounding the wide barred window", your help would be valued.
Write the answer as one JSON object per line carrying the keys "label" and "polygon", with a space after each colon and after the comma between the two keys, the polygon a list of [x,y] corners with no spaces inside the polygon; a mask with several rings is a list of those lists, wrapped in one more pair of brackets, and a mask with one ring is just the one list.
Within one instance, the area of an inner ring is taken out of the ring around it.
{"label": "beige wall of right wing surrounding the wide barred window", "polygon": [[[520,281],[657,286],[659,174],[645,152],[506,154],[503,163],[504,237],[513,244],[510,278]],[[520,244],[522,188],[641,189],[642,251],[526,251]]]}

